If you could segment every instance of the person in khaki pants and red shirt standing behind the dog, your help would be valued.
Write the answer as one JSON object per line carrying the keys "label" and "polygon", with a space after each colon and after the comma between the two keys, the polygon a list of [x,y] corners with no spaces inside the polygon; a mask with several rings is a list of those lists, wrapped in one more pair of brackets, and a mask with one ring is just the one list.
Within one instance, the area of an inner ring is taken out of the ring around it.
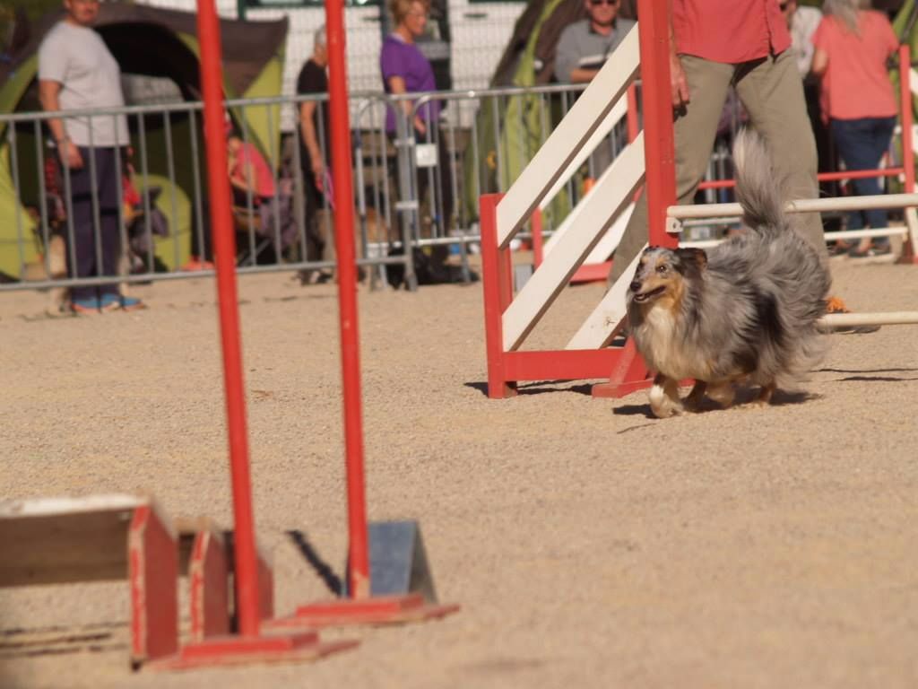
{"label": "person in khaki pants and red shirt standing behind the dog", "polygon": [[[817,198],[816,143],[778,0],[671,0],[670,71],[677,203],[689,204],[711,158],[730,85],[766,138],[791,198]],[[800,233],[827,255],[818,213],[798,216]],[[647,243],[647,202],[638,200],[609,283]]]}

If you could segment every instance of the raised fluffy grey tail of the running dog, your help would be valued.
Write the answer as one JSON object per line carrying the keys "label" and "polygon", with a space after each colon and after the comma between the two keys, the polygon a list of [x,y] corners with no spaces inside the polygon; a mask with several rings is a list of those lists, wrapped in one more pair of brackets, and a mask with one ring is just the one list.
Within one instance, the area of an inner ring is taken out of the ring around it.
{"label": "raised fluffy grey tail of the running dog", "polygon": [[736,168],[736,200],[743,207],[743,222],[750,229],[768,234],[787,226],[784,198],[775,179],[765,140],[755,130],[744,129],[733,143]]}

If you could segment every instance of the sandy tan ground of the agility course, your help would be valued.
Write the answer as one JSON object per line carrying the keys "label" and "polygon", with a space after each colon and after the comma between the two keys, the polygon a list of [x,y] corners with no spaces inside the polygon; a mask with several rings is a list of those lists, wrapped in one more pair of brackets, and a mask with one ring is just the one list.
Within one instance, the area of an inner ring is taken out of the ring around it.
{"label": "sandy tan ground of the agility course", "polygon": [[[918,307],[918,268],[834,265],[858,310]],[[151,491],[229,523],[214,288],[50,320],[0,298],[0,494]],[[601,288],[534,333],[561,346]],[[277,608],[328,597],[283,536],[345,555],[337,300],[241,280],[256,522]],[[123,583],[0,592],[0,686],[913,687],[918,328],[833,335],[806,395],[666,421],[584,381],[484,393],[478,286],[360,294],[367,500],[417,518],[440,622],[331,632],[312,664],[129,672]],[[4,554],[6,557],[6,554]],[[87,631],[88,630],[88,631]],[[67,639],[70,640],[67,640]]]}

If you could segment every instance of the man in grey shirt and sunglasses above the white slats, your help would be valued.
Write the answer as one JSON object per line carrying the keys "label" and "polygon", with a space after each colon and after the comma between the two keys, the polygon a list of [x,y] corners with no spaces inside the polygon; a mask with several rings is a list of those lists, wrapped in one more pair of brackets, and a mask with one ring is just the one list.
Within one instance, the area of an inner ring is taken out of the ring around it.
{"label": "man in grey shirt and sunglasses above the white slats", "polygon": [[588,17],[568,24],[558,38],[554,77],[560,83],[591,81],[634,26],[633,19],[618,17],[619,3],[620,0],[584,0]]}

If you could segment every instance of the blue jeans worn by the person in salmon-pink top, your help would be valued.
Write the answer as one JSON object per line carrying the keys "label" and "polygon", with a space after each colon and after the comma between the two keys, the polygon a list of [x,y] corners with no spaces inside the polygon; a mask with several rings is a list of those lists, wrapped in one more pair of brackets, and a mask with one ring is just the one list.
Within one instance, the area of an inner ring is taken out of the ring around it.
{"label": "blue jeans worn by the person in salmon-pink top", "polygon": [[[895,117],[891,118],[862,118],[862,119],[833,119],[832,133],[838,152],[845,161],[848,170],[875,170],[879,167],[879,160],[883,153],[890,148],[892,130],[896,126]],[[879,178],[852,180],[856,196],[876,196],[883,191],[879,185]],[[848,213],[848,230],[860,230],[864,222],[871,228],[887,227],[885,209],[852,210]],[[888,239],[881,239],[876,243],[886,243]]]}

